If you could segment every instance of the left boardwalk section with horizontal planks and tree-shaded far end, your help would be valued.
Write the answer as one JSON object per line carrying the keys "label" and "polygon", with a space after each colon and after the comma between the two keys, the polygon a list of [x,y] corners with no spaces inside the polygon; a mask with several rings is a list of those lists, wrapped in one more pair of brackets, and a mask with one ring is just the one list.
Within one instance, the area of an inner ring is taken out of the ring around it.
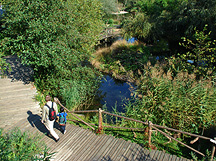
{"label": "left boardwalk section with horizontal planks and tree-shaded far end", "polygon": [[27,111],[39,113],[39,103],[34,97],[37,90],[31,82],[33,70],[20,63],[16,56],[7,56],[12,71],[0,78],[0,127],[12,126],[23,118]]}

